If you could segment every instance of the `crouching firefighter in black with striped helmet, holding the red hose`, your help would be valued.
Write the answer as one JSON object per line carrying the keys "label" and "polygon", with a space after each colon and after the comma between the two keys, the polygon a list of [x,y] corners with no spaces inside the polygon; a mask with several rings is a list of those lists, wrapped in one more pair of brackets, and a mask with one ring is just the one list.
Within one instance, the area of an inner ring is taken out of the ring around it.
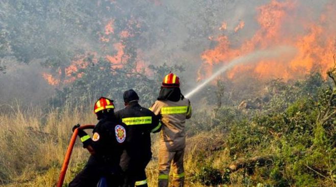
{"label": "crouching firefighter in black with striped helmet, holding the red hose", "polygon": [[[122,186],[120,156],[125,148],[126,125],[116,120],[113,100],[100,97],[94,104],[94,113],[99,120],[90,136],[82,129],[78,136],[83,147],[88,149],[90,157],[84,169],[69,183],[70,187],[97,186],[101,177],[105,177],[108,186]],[[72,131],[80,125],[73,126]]]}

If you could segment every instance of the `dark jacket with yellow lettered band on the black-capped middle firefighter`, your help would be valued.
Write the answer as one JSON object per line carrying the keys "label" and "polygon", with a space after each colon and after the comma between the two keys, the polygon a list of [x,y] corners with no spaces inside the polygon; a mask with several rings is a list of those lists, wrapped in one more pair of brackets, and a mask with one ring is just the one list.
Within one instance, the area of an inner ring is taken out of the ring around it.
{"label": "dark jacket with yellow lettered band on the black-capped middle firefighter", "polygon": [[161,130],[159,118],[150,110],[138,103],[127,105],[126,108],[115,113],[117,119],[127,125],[126,151],[128,156],[151,157],[150,132]]}

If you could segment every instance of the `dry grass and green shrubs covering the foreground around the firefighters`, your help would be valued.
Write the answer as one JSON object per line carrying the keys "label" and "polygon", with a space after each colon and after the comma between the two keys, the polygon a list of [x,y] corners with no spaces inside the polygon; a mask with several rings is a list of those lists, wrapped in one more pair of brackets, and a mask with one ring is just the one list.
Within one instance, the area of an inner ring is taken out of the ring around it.
{"label": "dry grass and green shrubs covering the foreground around the firefighters", "polygon": [[[187,124],[187,186],[334,186],[333,88],[333,82],[318,73],[292,83],[274,80],[262,95],[238,107],[222,97],[225,83],[219,81],[212,86],[217,105],[209,105],[209,110],[194,107]],[[91,110],[70,105],[27,110],[12,106],[0,121],[0,181],[8,187],[55,185],[71,126],[96,123]],[[158,137],[152,138],[147,174],[150,186],[156,186]],[[65,183],[88,156],[77,142]]]}

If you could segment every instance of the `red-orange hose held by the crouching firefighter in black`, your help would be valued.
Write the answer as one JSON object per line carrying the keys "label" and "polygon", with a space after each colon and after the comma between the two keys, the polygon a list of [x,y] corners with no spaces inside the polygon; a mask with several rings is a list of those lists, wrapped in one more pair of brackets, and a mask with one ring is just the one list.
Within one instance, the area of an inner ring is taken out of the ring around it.
{"label": "red-orange hose held by the crouching firefighter in black", "polygon": [[[94,126],[95,125],[81,125],[79,128],[80,129],[88,129],[88,128],[94,128]],[[62,187],[62,185],[63,185],[64,178],[65,178],[65,173],[66,173],[66,170],[68,169],[70,156],[71,156],[71,153],[72,153],[74,143],[76,142],[77,135],[78,135],[78,128],[76,128],[72,133],[72,137],[71,137],[71,140],[70,140],[70,143],[69,143],[69,147],[68,147],[68,149],[66,150],[66,153],[65,153],[65,158],[64,158],[64,161],[63,161],[63,165],[62,165],[61,174],[60,174],[60,177],[59,177],[58,182],[57,182],[57,187]]]}

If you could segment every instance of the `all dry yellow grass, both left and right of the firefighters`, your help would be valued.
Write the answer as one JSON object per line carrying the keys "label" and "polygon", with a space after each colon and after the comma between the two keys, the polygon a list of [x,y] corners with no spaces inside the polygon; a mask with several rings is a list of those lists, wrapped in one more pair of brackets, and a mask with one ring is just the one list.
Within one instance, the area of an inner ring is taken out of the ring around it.
{"label": "all dry yellow grass, both left and right of the firefighters", "polygon": [[[91,111],[66,107],[56,109],[32,109],[22,111],[18,106],[8,114],[0,114],[0,185],[14,186],[55,186],[59,177],[64,153],[71,137],[71,127],[76,123],[95,124],[96,119]],[[158,137],[153,135],[153,161],[147,166],[149,186],[157,186],[158,178]],[[192,182],[190,177],[197,172],[199,153],[202,152],[204,162],[213,162],[220,168],[226,161],[225,150],[212,155],[208,145],[220,145],[222,135],[202,133],[188,139],[185,154],[186,186],[204,186]],[[214,146],[216,148],[216,146]],[[88,152],[77,142],[73,150],[65,183],[71,180],[71,170],[79,163],[85,162]],[[213,159],[215,157],[215,159]],[[212,160],[211,160],[212,159]],[[237,186],[237,185],[236,185]]]}

